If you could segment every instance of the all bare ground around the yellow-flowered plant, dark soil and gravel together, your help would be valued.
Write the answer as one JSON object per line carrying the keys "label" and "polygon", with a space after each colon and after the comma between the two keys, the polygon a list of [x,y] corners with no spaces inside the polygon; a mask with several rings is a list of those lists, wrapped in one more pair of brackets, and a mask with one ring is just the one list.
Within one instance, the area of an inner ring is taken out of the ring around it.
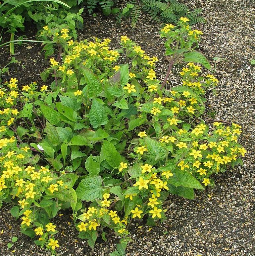
{"label": "all bare ground around the yellow-flowered plant, dark soil and gravel together", "polygon": [[[249,60],[255,58],[254,13],[252,1],[248,0],[193,0],[186,1],[192,7],[201,7],[206,24],[194,27],[204,32],[200,51],[212,66],[220,84],[217,95],[208,93],[207,113],[216,114],[215,119],[236,122],[243,126],[240,143],[248,151],[244,166],[236,166],[223,175],[215,177],[214,188],[196,192],[195,200],[171,197],[166,206],[168,219],[149,229],[146,224],[132,223],[128,244],[128,255],[193,255],[221,256],[255,255],[254,223],[254,148],[255,148],[255,68]],[[168,68],[164,57],[164,44],[158,37],[161,24],[150,16],[143,15],[135,29],[128,22],[116,23],[114,18],[98,15],[84,17],[84,29],[79,40],[93,36],[112,39],[113,48],[118,48],[121,35],[141,45],[150,55],[157,56],[156,73],[161,80]],[[35,31],[26,31],[35,35]],[[48,65],[41,53],[41,45],[17,46],[16,65],[11,65],[9,74],[4,77],[17,77],[20,85],[37,81],[43,84],[39,73]],[[7,49],[2,49],[2,52]],[[1,53],[1,50],[0,50]],[[7,63],[8,53],[0,54],[0,63]],[[213,57],[219,57],[214,61]],[[174,68],[168,86],[175,86],[179,78]],[[209,122],[209,121],[208,121]],[[210,124],[210,122],[209,122]],[[20,220],[10,214],[11,207],[4,206],[0,211],[0,252],[3,256],[49,255],[39,249],[33,241],[20,233]],[[60,212],[61,213],[61,212]],[[116,249],[118,237],[109,237],[106,242],[98,239],[95,248],[88,247],[86,241],[77,238],[78,232],[72,224],[71,212],[63,212],[54,218],[60,231],[56,235],[61,247],[60,255],[109,255]],[[1,232],[3,230],[3,232]],[[11,249],[7,243],[13,236],[18,237]]]}

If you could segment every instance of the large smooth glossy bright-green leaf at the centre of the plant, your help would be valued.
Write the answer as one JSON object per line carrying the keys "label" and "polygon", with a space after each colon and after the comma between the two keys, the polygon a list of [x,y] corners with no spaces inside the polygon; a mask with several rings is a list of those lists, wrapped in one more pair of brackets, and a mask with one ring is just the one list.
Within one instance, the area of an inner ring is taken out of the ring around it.
{"label": "large smooth glossy bright-green leaf at the centre of the plant", "polygon": [[111,142],[104,140],[101,150],[103,151],[104,159],[109,165],[113,168],[120,166],[123,160],[122,156]]}

